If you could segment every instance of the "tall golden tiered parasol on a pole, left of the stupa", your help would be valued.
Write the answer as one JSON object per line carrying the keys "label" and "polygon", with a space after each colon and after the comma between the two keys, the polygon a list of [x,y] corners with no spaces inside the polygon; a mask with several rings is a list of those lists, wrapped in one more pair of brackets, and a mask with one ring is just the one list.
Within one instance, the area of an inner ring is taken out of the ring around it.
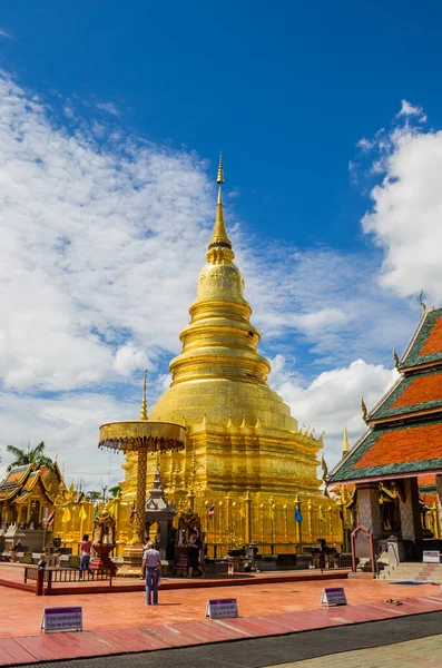
{"label": "tall golden tiered parasol on a pole, left of the stupa", "polygon": [[137,495],[135,525],[137,540],[145,540],[146,471],[147,455],[183,450],[186,428],[174,422],[154,422],[148,419],[146,404],[146,373],[143,386],[143,402],[139,420],[108,422],[100,426],[98,448],[117,450],[124,453],[138,453]]}

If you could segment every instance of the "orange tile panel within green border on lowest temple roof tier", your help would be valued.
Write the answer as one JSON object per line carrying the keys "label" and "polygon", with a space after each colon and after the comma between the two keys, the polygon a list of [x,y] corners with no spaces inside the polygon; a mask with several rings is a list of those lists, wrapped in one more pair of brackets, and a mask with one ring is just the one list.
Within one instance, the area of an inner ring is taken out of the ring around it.
{"label": "orange tile panel within green border on lowest temple roof tier", "polygon": [[353,469],[384,466],[442,458],[442,424],[384,432]]}

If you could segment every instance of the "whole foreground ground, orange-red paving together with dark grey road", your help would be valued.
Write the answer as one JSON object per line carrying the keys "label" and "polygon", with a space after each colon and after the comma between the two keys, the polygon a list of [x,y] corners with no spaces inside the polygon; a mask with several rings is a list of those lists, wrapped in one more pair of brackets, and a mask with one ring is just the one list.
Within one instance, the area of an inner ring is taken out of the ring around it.
{"label": "whole foreground ground, orange-red paving together with dark grey road", "polygon": [[[321,607],[322,589],[327,586],[344,587],[348,605]],[[220,597],[237,599],[237,619],[206,619],[207,599]],[[45,607],[73,605],[82,607],[84,632],[40,635]],[[208,666],[264,667],[338,652],[338,638],[343,651],[357,650],[364,647],[363,629],[369,629],[365,630],[365,646],[376,647],[435,636],[442,627],[440,587],[360,578],[292,582],[259,581],[257,578],[252,584],[232,583],[223,589],[210,587],[208,581],[204,589],[160,591],[158,607],[147,607],[143,591],[37,597],[28,591],[0,587],[0,666],[53,660],[61,665],[66,659],[73,660],[71,668],[86,665],[90,668],[105,665],[107,668],[190,666],[191,660],[187,664],[187,658],[200,651],[204,665]],[[393,625],[390,632],[389,625]],[[402,626],[396,628],[394,625]],[[392,635],[394,632],[396,636]],[[253,648],[259,642],[264,644],[266,652],[252,652],[245,648],[247,644]],[[230,646],[236,649],[230,651]],[[433,646],[430,644],[429,647],[431,652]],[[307,649],[310,654],[305,654]],[[178,650],[184,652],[180,655],[184,658],[174,664],[170,657]],[[242,662],[238,662],[239,654]],[[112,658],[111,655],[120,656]],[[366,664],[353,664],[358,665]],[[421,665],[425,666],[414,662],[414,666]]]}

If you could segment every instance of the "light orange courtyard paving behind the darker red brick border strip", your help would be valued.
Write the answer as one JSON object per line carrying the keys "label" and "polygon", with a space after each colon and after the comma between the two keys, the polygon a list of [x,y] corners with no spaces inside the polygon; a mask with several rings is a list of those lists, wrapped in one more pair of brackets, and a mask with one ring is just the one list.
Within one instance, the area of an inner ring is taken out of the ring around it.
{"label": "light orange courtyard paving behind the darker red brick border strip", "polygon": [[[321,608],[324,587],[345,588],[350,605],[381,602],[390,598],[425,597],[440,595],[440,587],[422,584],[389,584],[373,580],[302,581],[240,586],[227,588],[177,589],[160,591],[158,607],[147,608],[144,592],[95,593],[78,596],[36,597],[26,591],[0,588],[0,637],[29,636],[40,630],[45,607],[81,606],[86,630],[136,628],[149,625],[177,623],[204,620],[209,598],[236,597],[239,615],[295,612]],[[23,615],[26,610],[26,615]]]}

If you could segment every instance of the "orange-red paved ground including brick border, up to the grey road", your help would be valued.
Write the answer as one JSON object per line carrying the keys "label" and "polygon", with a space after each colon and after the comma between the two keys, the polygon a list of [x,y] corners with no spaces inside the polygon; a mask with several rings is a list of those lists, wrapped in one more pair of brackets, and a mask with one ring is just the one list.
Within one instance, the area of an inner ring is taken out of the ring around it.
{"label": "orange-red paved ground including brick border, up to the grey road", "polygon": [[[318,609],[322,588],[341,583],[348,606]],[[256,582],[223,590],[223,597],[237,598],[240,618],[206,620],[207,599],[218,597],[219,589],[214,588],[167,590],[160,592],[160,606],[147,607],[143,592],[53,599],[0,588],[0,665],[183,647],[442,610],[440,587],[432,584],[392,586],[360,579]],[[390,598],[404,605],[386,603]],[[40,636],[42,609],[67,605],[82,606],[85,631]]]}

